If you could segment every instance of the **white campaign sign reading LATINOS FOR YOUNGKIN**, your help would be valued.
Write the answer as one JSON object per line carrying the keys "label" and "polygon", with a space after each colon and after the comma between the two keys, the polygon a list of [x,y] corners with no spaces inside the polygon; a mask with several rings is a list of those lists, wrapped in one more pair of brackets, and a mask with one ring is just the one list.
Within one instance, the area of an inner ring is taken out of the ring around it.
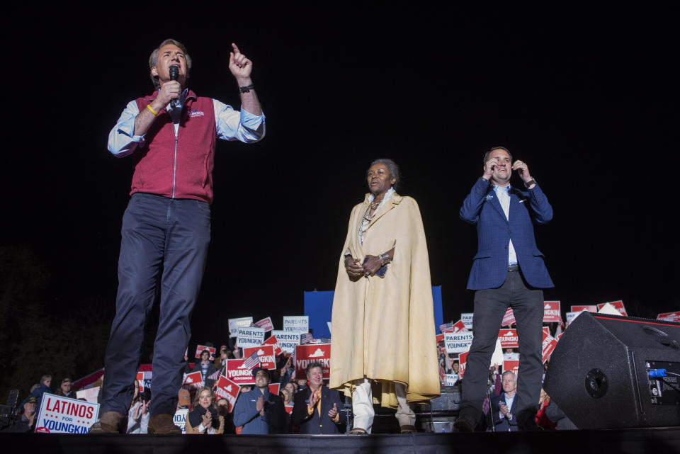
{"label": "white campaign sign reading LATINOS FOR YOUNGKIN", "polygon": [[45,392],[40,400],[36,433],[87,433],[99,415],[99,404]]}

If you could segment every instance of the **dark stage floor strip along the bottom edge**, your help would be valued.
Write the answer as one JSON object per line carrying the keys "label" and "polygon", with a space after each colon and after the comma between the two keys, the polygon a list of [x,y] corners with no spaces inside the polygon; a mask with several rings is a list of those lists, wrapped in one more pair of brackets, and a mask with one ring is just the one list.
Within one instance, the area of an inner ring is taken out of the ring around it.
{"label": "dark stage floor strip along the bottom edge", "polygon": [[[372,436],[107,436],[0,433],[4,453],[680,453],[680,428]],[[6,450],[9,448],[9,451]]]}

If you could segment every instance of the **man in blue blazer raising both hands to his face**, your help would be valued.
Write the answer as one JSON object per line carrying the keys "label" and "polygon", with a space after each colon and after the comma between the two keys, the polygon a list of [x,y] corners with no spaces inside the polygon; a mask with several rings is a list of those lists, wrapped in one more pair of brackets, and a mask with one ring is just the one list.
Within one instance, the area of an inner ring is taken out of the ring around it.
{"label": "man in blue blazer raising both hands to his face", "polygon": [[[524,183],[522,190],[510,186],[513,170]],[[472,431],[481,418],[498,330],[507,308],[512,307],[520,351],[517,426],[538,429],[534,415],[543,372],[541,289],[554,285],[536,247],[533,224],[550,221],[553,208],[526,163],[513,163],[506,148],[494,147],[484,156],[484,174],[465,198],[460,218],[477,226],[477,254],[467,280],[467,288],[475,290],[475,336],[467,355],[455,427]]]}

